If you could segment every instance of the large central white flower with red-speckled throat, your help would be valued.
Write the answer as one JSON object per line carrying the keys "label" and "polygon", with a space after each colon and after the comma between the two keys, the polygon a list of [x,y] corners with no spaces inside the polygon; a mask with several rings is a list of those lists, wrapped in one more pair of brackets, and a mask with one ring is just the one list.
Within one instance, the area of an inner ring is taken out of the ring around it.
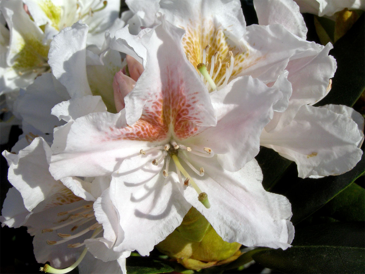
{"label": "large central white flower with red-speckled throat", "polygon": [[[294,232],[290,203],[263,189],[253,159],[283,94],[250,76],[209,94],[183,53],[182,34],[159,18],[141,36],[145,71],[125,98],[134,111],[92,113],[55,131],[50,172],[62,181],[111,175],[100,199],[118,212],[104,210],[103,222],[120,239],[116,252],[148,255],[192,205],[223,240],[285,249]],[[59,104],[53,113],[64,111]]]}

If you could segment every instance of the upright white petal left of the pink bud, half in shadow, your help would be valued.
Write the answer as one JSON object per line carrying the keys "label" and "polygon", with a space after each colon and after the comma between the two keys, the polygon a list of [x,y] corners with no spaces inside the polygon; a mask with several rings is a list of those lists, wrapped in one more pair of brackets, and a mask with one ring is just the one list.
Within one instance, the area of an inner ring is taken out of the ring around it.
{"label": "upright white petal left of the pink bud, half in shadow", "polygon": [[57,34],[50,45],[48,63],[71,98],[91,95],[85,61],[88,28],[80,22],[74,23]]}

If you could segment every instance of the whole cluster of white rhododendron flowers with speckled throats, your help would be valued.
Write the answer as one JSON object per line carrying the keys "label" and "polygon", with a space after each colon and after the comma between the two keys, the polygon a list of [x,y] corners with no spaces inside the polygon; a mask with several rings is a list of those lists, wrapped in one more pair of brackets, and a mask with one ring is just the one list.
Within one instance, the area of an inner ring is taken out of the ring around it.
{"label": "whole cluster of white rhododendron flowers with speckled throats", "polygon": [[113,1],[64,2],[0,3],[1,92],[22,88],[23,121],[1,221],[28,227],[41,270],[126,273],[192,206],[224,241],[285,250],[291,204],[262,186],[260,145],[301,178],[361,159],[361,115],[313,106],[336,61],[294,1],[254,1],[250,26],[235,0],[127,0],[121,19]]}

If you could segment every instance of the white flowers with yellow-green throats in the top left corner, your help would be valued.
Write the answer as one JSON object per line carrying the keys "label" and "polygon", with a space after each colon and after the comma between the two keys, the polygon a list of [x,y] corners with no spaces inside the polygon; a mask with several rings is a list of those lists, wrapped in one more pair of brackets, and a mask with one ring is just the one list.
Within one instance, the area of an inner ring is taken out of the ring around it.
{"label": "white flowers with yellow-green throats in the top left corner", "polygon": [[[1,1],[0,11],[10,30],[6,58],[1,57],[1,94],[25,88],[49,72],[51,39],[78,20],[89,24],[88,45],[100,48],[105,30],[118,18],[119,7],[119,0]],[[1,27],[1,45],[5,44],[4,32]]]}

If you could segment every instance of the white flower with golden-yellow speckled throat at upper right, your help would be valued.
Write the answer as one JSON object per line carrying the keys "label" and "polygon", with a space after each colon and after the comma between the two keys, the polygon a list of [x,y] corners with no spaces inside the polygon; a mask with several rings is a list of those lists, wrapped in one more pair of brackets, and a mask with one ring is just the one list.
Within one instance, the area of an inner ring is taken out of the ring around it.
{"label": "white flower with golden-yellow speckled throat at upper right", "polygon": [[254,5],[260,25],[247,27],[238,1],[160,1],[159,11],[186,30],[184,51],[194,67],[205,63],[207,71],[201,77],[210,91],[251,75],[283,92],[261,145],[296,161],[300,177],[349,171],[361,158],[361,130],[341,113],[311,106],[331,89],[336,70],[334,58],[328,56],[332,45],[304,40],[307,28],[292,0],[254,1]]}

